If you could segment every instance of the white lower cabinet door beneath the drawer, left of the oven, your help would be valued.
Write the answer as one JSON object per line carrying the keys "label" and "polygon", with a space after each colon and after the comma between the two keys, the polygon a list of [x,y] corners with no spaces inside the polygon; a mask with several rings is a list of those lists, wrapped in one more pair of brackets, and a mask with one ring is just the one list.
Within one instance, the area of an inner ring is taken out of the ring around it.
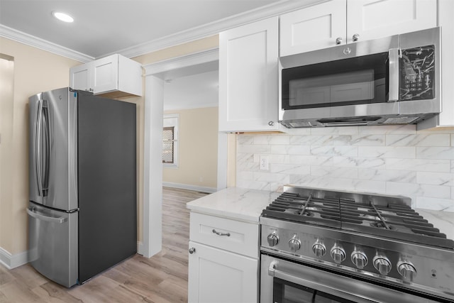
{"label": "white lower cabinet door beneath the drawer, left of the oven", "polygon": [[258,302],[258,260],[189,241],[189,303]]}

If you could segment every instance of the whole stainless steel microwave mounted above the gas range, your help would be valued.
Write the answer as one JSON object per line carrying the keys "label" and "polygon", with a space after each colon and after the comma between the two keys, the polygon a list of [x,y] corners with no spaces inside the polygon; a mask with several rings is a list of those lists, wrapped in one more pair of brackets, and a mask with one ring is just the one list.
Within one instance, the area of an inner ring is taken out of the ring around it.
{"label": "whole stainless steel microwave mounted above the gas range", "polygon": [[441,112],[441,28],[279,58],[287,128],[419,123]]}

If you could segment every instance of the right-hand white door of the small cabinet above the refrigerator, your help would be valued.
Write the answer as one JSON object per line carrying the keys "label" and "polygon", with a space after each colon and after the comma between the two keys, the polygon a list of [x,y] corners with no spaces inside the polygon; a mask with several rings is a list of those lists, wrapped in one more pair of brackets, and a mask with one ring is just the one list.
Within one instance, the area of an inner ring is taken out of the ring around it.
{"label": "right-hand white door of the small cabinet above the refrigerator", "polygon": [[118,89],[118,55],[93,61],[93,93]]}

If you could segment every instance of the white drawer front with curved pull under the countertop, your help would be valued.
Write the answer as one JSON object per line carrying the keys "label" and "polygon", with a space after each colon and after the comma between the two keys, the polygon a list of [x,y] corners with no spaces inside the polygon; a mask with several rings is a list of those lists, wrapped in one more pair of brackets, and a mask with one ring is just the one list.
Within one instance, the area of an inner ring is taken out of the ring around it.
{"label": "white drawer front with curved pull under the countertop", "polygon": [[258,224],[191,212],[191,241],[258,258]]}

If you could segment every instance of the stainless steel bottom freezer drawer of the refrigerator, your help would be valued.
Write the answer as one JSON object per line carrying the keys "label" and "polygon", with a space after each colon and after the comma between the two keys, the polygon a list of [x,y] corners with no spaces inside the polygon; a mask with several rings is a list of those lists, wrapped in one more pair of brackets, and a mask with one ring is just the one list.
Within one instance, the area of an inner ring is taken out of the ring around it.
{"label": "stainless steel bottom freezer drawer of the refrigerator", "polygon": [[33,268],[60,285],[77,284],[78,211],[55,211],[30,203],[27,213],[29,259]]}

